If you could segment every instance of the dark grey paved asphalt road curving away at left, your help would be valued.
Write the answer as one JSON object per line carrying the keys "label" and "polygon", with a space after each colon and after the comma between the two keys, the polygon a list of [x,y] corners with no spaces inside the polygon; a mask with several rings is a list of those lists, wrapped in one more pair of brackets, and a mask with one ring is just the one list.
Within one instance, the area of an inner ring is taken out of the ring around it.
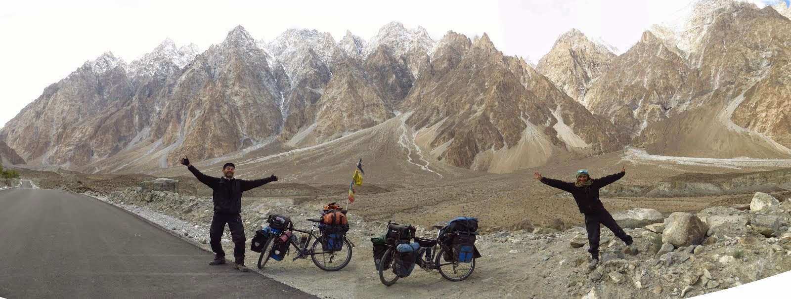
{"label": "dark grey paved asphalt road curving away at left", "polygon": [[229,263],[209,266],[212,258],[98,199],[0,191],[0,297],[313,297]]}

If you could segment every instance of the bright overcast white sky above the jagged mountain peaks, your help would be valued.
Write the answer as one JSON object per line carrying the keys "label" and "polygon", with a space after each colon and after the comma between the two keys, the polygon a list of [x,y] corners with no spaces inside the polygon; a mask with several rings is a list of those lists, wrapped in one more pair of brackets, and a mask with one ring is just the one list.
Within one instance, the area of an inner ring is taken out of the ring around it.
{"label": "bright overcast white sky above the jagged mountain peaks", "polygon": [[0,126],[84,62],[112,51],[128,63],[167,37],[202,51],[237,25],[255,39],[315,28],[335,40],[346,29],[369,40],[388,21],[400,21],[422,25],[437,40],[448,30],[486,32],[506,55],[538,62],[571,28],[626,51],[650,25],[678,19],[687,6],[687,0],[8,1],[0,4]]}

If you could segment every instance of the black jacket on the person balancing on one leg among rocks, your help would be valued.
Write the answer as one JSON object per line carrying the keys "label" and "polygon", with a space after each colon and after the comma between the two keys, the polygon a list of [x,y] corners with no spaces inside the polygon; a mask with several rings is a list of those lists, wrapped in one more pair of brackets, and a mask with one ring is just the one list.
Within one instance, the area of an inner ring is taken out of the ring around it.
{"label": "black jacket on the person balancing on one leg among rocks", "polygon": [[600,179],[594,179],[590,186],[582,187],[577,187],[573,182],[568,183],[547,177],[542,178],[541,183],[556,187],[562,191],[571,192],[571,195],[574,196],[574,201],[577,202],[577,207],[580,208],[580,213],[596,213],[604,210],[604,205],[599,199],[599,189],[619,180],[625,174],[626,172],[618,172]]}

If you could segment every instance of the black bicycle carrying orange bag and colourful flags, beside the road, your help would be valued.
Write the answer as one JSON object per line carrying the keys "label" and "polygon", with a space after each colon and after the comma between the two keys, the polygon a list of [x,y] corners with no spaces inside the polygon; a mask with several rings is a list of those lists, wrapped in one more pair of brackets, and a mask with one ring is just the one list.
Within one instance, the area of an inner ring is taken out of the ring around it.
{"label": "black bicycle carrying orange bag and colourful flags, beside the road", "polygon": [[[293,238],[289,238],[288,241],[286,241],[289,244],[291,244],[293,248],[297,249],[297,256],[294,256],[294,258],[291,259],[291,261],[293,262],[294,260],[297,259],[305,259],[308,257],[308,255],[310,255],[310,259],[312,259],[313,263],[316,264],[316,267],[319,267],[321,270],[339,271],[343,269],[343,267],[346,267],[346,265],[348,265],[349,261],[351,260],[351,248],[353,247],[351,241],[347,239],[346,236],[343,236],[343,244],[341,245],[341,248],[339,250],[331,250],[331,248],[324,248],[324,246],[322,246],[321,244],[323,239],[321,233],[319,232],[318,235],[313,233],[313,231],[316,230],[316,225],[318,225],[321,220],[307,219],[307,221],[313,222],[313,226],[311,227],[309,232],[301,229],[294,229],[293,223],[289,225],[289,229],[287,231],[306,233],[308,236],[308,239],[305,241],[304,244],[297,243],[297,241],[293,240]],[[278,237],[281,237],[285,233],[286,231],[282,231],[280,233],[273,234],[269,238],[267,238],[267,241],[263,245],[263,249],[261,250],[261,255],[259,255],[258,258],[259,269],[263,269],[263,267],[267,265],[267,261],[271,258],[271,255],[274,252],[273,240],[277,239]],[[308,249],[308,244],[310,244],[311,240],[314,241],[313,244]]]}

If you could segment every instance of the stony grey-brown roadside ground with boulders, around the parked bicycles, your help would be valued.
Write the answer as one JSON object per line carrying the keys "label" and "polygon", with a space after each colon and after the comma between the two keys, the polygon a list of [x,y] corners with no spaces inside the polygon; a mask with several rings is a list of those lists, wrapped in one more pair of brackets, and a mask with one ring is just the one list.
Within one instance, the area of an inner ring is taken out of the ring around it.
{"label": "stony grey-brown roadside ground with boulders, around the parked bicycles", "polygon": [[[100,198],[208,249],[205,243],[212,215],[209,198],[142,191],[139,187]],[[308,226],[305,218],[316,217],[322,206],[319,202],[278,206],[258,200],[245,200],[243,204],[248,237],[266,225],[267,214],[290,215],[297,227],[304,228]],[[626,255],[623,242],[603,229],[601,262],[595,268],[587,266],[583,227],[566,226],[556,219],[525,223],[519,229],[489,231],[476,241],[483,257],[466,281],[448,282],[437,273],[418,269],[390,288],[379,282],[369,242],[384,231],[386,222],[365,221],[350,214],[349,237],[356,247],[352,263],[342,271],[327,274],[309,260],[286,259],[260,272],[308,293],[333,298],[388,297],[394,290],[405,296],[424,297],[693,297],[791,270],[791,198],[780,202],[759,192],[750,204],[739,209],[712,206],[668,217],[642,208],[615,212],[614,217],[628,228],[626,232],[634,237],[640,252]],[[437,233],[424,225],[418,225],[418,232],[424,237]],[[227,233],[223,244],[233,248]],[[210,256],[207,252],[206,260]],[[257,258],[257,253],[248,252],[248,266],[255,265]],[[346,287],[332,287],[337,284]]]}

